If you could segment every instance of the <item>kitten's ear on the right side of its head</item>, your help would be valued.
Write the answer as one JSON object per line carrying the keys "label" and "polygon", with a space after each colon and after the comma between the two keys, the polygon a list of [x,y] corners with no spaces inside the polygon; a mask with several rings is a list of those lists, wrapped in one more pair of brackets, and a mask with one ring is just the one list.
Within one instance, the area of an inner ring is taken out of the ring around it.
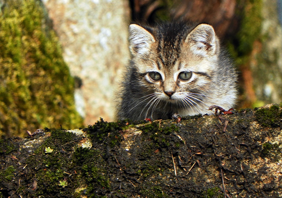
{"label": "kitten's ear on the right side of its head", "polygon": [[217,37],[214,28],[207,24],[200,24],[185,39],[190,50],[196,55],[207,57],[216,53]]}

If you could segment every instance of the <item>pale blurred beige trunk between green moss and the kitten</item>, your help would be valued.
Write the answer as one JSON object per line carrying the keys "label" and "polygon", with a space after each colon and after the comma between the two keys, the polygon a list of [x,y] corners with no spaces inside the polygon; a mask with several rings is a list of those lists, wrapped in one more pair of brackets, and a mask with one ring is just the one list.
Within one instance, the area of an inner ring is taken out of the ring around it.
{"label": "pale blurred beige trunk between green moss and the kitten", "polygon": [[63,57],[76,79],[75,102],[85,125],[114,119],[114,91],[128,60],[128,1],[44,0]]}

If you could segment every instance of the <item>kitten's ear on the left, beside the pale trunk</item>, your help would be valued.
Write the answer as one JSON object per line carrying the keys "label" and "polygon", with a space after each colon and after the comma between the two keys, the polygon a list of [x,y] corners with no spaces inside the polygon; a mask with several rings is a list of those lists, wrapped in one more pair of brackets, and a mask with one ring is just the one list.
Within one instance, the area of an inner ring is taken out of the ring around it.
{"label": "kitten's ear on the left, beside the pale trunk", "polygon": [[155,39],[147,30],[136,25],[129,26],[129,48],[132,54],[146,54],[150,51]]}

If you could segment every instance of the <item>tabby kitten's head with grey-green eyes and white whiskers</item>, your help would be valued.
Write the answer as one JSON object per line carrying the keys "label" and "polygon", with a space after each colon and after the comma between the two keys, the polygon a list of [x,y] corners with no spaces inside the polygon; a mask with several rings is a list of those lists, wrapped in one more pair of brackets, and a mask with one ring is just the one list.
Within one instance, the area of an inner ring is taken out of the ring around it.
{"label": "tabby kitten's head with grey-green eyes and white whiskers", "polygon": [[131,24],[129,34],[141,85],[162,101],[200,100],[217,69],[220,46],[212,26],[179,23],[150,28]]}

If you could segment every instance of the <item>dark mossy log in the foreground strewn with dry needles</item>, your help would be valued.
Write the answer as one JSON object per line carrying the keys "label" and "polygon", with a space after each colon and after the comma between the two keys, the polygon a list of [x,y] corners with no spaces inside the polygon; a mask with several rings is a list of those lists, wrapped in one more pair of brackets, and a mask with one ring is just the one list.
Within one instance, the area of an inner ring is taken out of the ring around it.
{"label": "dark mossy log in the foreground strewn with dry needles", "polygon": [[177,121],[0,140],[0,197],[281,196],[282,104]]}

